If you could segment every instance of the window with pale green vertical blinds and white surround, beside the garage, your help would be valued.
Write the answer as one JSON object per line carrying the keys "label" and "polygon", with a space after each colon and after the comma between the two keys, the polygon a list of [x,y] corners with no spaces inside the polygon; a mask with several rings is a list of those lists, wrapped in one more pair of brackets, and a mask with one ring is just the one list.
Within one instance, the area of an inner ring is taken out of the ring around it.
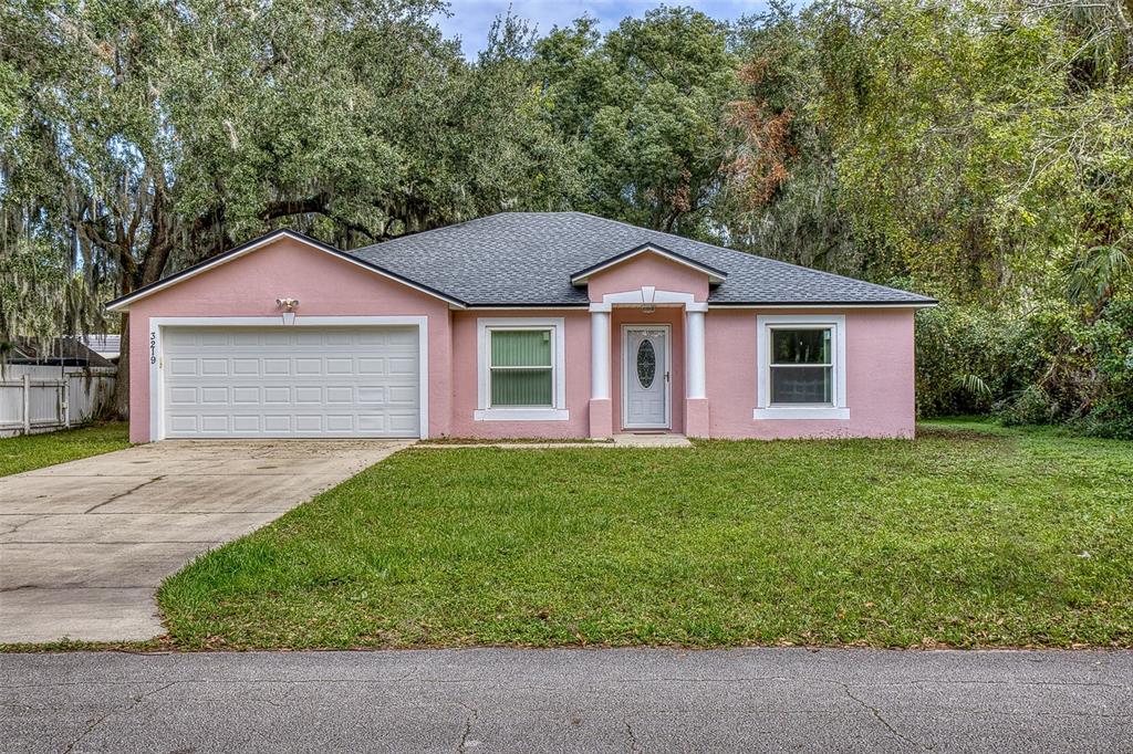
{"label": "window with pale green vertical blinds and white surround, beside the garage", "polygon": [[479,386],[474,419],[569,419],[564,332],[562,317],[478,319]]}

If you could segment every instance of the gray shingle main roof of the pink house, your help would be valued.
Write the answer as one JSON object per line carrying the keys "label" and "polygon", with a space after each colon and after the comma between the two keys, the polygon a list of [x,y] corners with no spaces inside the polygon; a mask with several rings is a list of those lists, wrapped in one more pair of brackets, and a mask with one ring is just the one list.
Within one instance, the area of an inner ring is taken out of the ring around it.
{"label": "gray shingle main roof of the pink house", "polygon": [[349,254],[470,306],[585,305],[571,275],[653,243],[727,275],[710,303],[909,303],[934,300],[580,212],[503,213]]}

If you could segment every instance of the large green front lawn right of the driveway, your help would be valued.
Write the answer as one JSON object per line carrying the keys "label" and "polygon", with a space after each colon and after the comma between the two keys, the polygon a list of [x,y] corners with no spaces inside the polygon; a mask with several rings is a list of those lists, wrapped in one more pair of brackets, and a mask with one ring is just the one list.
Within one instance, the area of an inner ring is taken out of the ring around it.
{"label": "large green front lawn right of the driveway", "polygon": [[199,559],[160,603],[186,649],[1131,646],[1131,480],[1133,444],[971,422],[410,449]]}

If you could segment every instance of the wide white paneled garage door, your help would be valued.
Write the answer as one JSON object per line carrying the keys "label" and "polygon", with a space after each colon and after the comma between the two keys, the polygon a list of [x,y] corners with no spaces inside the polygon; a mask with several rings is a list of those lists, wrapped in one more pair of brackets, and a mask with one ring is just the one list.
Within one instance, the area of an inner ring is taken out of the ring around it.
{"label": "wide white paneled garage door", "polygon": [[419,437],[416,327],[170,327],[167,437]]}

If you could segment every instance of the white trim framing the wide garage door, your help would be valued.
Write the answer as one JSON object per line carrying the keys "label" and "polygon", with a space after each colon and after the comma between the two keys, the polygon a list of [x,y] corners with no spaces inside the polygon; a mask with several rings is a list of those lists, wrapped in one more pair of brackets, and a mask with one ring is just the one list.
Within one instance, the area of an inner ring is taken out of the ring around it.
{"label": "white trim framing the wide garage door", "polygon": [[[428,437],[428,317],[150,317],[150,442],[165,438],[165,379],[162,329],[165,327],[380,327],[416,325],[420,437]],[[133,365],[131,365],[133,366]]]}

